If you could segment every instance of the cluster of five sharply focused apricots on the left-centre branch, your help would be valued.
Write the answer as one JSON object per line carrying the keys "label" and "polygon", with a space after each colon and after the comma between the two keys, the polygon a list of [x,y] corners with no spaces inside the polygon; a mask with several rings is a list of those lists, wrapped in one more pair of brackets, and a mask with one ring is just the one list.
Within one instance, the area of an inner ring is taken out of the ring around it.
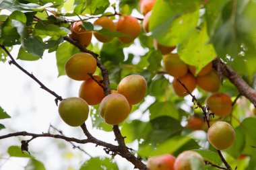
{"label": "cluster of five sharply focused apricots on the left-centre branch", "polygon": [[117,91],[105,95],[101,85],[103,79],[93,75],[96,71],[96,59],[91,54],[79,52],[67,60],[65,72],[76,81],[83,81],[79,88],[79,97],[63,99],[59,105],[59,114],[70,126],[80,126],[88,118],[89,106],[100,103],[100,116],[108,124],[120,124],[131,112],[131,105],[139,103],[146,95],[147,83],[140,75],[129,75],[121,80]]}

